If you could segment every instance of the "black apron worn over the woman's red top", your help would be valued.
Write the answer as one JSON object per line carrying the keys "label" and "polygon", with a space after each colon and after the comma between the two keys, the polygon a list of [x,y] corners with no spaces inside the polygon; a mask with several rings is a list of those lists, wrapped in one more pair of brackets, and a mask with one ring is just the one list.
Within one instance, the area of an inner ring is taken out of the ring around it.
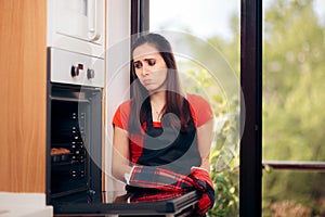
{"label": "black apron worn over the woman's red top", "polygon": [[[184,110],[191,114],[186,100]],[[161,128],[153,126],[152,110],[148,111],[146,129],[143,139],[143,152],[136,164],[158,166],[185,176],[191,174],[192,166],[200,166],[202,158],[197,148],[196,127],[191,114],[185,130],[172,128],[164,115]],[[180,122],[180,117],[178,117]],[[167,126],[168,125],[168,126]]]}

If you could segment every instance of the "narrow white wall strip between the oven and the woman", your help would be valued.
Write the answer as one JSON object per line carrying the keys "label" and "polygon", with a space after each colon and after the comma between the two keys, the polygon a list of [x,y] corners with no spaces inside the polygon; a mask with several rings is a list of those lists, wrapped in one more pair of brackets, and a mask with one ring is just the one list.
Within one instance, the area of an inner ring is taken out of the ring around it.
{"label": "narrow white wall strip between the oven and the woman", "polygon": [[[106,119],[105,119],[105,174],[110,176],[113,127],[117,106],[129,99],[130,86],[130,14],[131,1],[107,0],[106,21]],[[112,183],[106,183],[109,189]]]}

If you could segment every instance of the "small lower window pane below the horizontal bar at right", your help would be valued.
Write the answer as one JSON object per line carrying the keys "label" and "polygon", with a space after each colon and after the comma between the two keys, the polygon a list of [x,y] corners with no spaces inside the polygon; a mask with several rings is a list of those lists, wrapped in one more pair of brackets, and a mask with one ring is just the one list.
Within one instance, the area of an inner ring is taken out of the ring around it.
{"label": "small lower window pane below the horizontal bar at right", "polygon": [[263,173],[262,216],[324,216],[325,173]]}

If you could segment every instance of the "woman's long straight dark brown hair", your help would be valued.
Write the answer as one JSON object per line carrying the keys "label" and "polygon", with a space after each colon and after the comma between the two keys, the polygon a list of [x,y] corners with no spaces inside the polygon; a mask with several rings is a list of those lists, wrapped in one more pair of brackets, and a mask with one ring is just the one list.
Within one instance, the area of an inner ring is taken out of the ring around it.
{"label": "woman's long straight dark brown hair", "polygon": [[[184,97],[182,95],[179,72],[177,62],[171,49],[169,41],[158,34],[145,34],[135,39],[131,48],[131,54],[133,51],[142,46],[150,44],[155,47],[159,54],[162,56],[167,65],[167,77],[166,77],[166,105],[164,107],[164,114],[171,113],[180,118],[181,123],[177,124],[174,118],[170,118],[170,125],[172,127],[180,126],[185,129],[190,119],[190,111],[184,108]],[[148,117],[150,107],[150,93],[140,84],[135,69],[133,66],[133,56],[131,58],[131,75],[132,75],[132,88],[131,88],[131,116],[129,122],[129,130],[132,132],[140,132],[141,126],[146,122]]]}

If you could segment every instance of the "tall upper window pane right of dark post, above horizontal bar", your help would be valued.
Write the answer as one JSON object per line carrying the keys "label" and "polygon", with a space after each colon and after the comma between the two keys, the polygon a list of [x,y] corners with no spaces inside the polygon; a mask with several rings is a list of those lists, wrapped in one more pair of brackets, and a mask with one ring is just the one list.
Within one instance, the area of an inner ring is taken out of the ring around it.
{"label": "tall upper window pane right of dark post, above horizontal bar", "polygon": [[325,161],[324,11],[324,1],[264,3],[264,159]]}

